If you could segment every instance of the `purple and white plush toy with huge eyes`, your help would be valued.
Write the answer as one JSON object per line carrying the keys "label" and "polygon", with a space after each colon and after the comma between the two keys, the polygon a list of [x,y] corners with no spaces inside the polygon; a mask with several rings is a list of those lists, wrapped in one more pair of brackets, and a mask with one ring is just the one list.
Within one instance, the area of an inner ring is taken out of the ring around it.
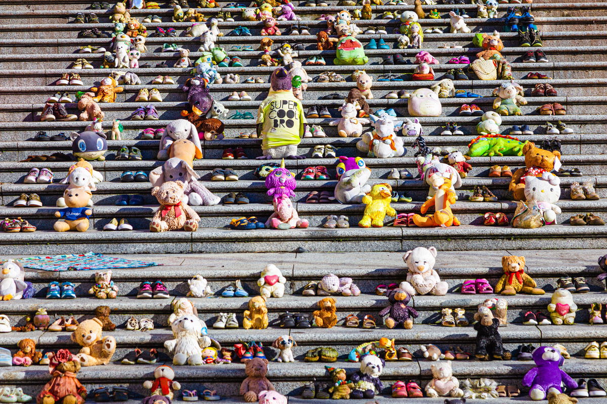
{"label": "purple and white plush toy with huge eyes", "polygon": [[361,204],[362,198],[371,191],[371,186],[365,184],[371,176],[362,157],[339,156],[336,167],[337,185],[334,195],[340,204]]}

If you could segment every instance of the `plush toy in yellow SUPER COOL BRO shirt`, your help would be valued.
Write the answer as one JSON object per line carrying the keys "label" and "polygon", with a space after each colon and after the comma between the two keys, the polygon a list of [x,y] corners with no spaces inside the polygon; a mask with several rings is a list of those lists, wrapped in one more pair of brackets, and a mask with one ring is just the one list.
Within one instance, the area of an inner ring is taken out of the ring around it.
{"label": "plush toy in yellow SUPER COOL BRO shirt", "polygon": [[306,128],[304,108],[293,96],[293,84],[287,69],[272,73],[268,96],[257,110],[257,134],[262,137],[263,156],[258,159],[303,159],[297,145]]}

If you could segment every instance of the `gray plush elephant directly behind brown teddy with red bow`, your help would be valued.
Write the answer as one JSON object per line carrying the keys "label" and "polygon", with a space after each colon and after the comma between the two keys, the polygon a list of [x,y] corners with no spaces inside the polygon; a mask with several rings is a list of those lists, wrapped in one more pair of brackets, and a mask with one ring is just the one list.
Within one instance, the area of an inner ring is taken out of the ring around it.
{"label": "gray plush elephant directly behind brown teddy with red bow", "polygon": [[149,173],[149,180],[152,187],[160,187],[166,181],[181,181],[184,184],[185,192],[183,202],[190,206],[211,206],[219,204],[221,198],[215,196],[200,182],[197,181],[200,176],[185,161],[172,157],[164,162],[160,167],[154,168]]}

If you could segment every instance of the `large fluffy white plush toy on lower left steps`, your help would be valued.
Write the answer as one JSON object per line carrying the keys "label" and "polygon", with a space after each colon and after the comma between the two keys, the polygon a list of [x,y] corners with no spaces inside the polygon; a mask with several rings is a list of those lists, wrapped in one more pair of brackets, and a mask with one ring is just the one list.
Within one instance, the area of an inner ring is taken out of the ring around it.
{"label": "large fluffy white plush toy on lower left steps", "polygon": [[212,343],[206,336],[206,324],[189,314],[175,319],[171,331],[173,339],[164,341],[164,348],[173,355],[173,365],[202,365],[202,349]]}

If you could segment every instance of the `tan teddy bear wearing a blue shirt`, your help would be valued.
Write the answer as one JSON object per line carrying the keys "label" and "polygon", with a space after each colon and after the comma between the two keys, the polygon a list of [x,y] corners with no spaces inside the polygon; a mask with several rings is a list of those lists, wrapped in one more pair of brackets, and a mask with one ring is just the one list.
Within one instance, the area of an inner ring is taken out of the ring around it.
{"label": "tan teddy bear wearing a blue shirt", "polygon": [[87,231],[89,228],[89,216],[93,211],[87,207],[93,194],[87,187],[70,187],[63,192],[63,199],[67,208],[55,211],[55,217],[63,217],[63,221],[57,221],[53,229],[58,232],[76,230]]}

